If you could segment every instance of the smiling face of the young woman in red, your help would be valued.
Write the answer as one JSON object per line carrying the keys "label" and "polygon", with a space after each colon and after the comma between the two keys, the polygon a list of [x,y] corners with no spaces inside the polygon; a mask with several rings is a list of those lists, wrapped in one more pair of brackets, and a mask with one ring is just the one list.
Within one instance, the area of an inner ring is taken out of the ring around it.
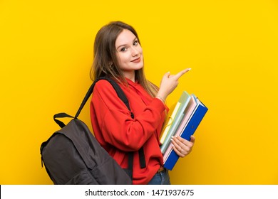
{"label": "smiling face of the young woman in red", "polygon": [[125,77],[134,81],[135,70],[143,68],[143,50],[136,36],[124,29],[115,41],[118,65]]}

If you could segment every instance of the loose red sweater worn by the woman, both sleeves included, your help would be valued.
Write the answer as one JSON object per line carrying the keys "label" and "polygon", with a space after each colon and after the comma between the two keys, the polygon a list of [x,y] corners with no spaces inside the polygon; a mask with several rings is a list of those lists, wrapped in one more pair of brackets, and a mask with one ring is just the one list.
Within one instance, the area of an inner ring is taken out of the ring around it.
{"label": "loose red sweater worn by the woman, both sleeves included", "polygon": [[140,168],[138,153],[133,160],[133,184],[147,184],[163,165],[159,136],[165,119],[165,107],[160,99],[151,97],[138,83],[128,80],[120,85],[130,103],[134,119],[106,80],[96,83],[91,99],[93,132],[101,146],[122,168],[128,168],[127,151],[143,146],[145,168]]}

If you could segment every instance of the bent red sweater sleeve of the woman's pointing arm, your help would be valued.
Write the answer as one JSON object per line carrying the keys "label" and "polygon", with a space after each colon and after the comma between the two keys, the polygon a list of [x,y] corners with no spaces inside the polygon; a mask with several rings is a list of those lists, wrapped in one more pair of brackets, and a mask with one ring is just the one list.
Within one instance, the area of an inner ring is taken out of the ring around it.
{"label": "bent red sweater sleeve of the woman's pointing arm", "polygon": [[92,103],[105,142],[123,151],[138,151],[155,134],[165,114],[164,104],[160,99],[153,98],[133,119],[112,85],[105,80],[96,83]]}

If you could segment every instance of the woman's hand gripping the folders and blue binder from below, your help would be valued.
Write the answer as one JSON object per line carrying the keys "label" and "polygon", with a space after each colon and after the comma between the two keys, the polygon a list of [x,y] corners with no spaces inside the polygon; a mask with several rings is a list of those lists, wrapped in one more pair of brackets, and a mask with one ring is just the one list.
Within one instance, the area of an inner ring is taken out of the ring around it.
{"label": "woman's hand gripping the folders and blue binder from below", "polygon": [[180,136],[173,136],[172,139],[172,146],[173,150],[177,153],[180,157],[185,157],[192,151],[194,146],[195,137],[190,136],[190,141],[183,139]]}

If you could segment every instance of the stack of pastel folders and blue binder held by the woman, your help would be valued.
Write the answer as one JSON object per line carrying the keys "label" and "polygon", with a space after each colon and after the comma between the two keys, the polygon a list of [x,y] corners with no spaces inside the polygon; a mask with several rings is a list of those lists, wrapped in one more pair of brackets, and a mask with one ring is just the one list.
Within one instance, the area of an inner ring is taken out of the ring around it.
{"label": "stack of pastel folders and blue binder held by the woman", "polygon": [[190,140],[207,112],[205,107],[195,95],[182,92],[177,103],[170,107],[167,120],[160,135],[161,152],[165,168],[172,170],[179,156],[171,146],[172,136],[181,136]]}

